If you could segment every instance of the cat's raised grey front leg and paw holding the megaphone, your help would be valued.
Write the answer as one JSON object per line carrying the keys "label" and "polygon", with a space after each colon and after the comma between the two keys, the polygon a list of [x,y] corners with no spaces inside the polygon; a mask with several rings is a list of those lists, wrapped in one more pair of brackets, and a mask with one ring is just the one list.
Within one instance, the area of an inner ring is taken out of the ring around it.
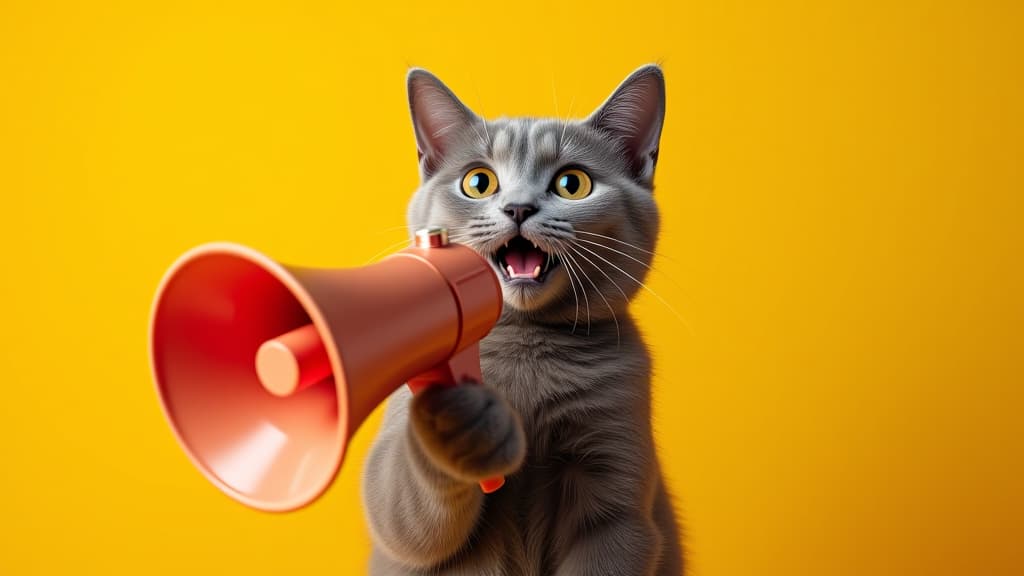
{"label": "cat's raised grey front leg and paw holding the megaphone", "polygon": [[518,416],[492,387],[396,392],[362,483],[376,546],[389,562],[414,569],[453,557],[479,518],[478,483],[517,470],[525,450]]}

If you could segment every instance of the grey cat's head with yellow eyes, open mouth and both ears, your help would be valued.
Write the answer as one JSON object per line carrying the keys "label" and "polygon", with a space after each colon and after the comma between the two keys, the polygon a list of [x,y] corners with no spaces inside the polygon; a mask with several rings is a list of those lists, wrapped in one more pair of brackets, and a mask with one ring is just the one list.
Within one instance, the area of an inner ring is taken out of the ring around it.
{"label": "grey cat's head with yellow eyes, open mouth and both ears", "polygon": [[582,324],[621,313],[657,236],[660,69],[636,70],[577,121],[488,121],[420,69],[408,86],[421,179],[410,228],[445,227],[484,256],[511,314]]}

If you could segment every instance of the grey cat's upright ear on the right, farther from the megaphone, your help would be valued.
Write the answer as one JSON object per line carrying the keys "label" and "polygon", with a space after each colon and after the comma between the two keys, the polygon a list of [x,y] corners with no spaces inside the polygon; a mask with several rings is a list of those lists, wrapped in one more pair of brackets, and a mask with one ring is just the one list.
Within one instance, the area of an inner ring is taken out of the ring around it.
{"label": "grey cat's upright ear on the right, farther from the megaphone", "polygon": [[623,143],[634,175],[649,180],[665,121],[665,76],[655,65],[637,69],[586,120]]}

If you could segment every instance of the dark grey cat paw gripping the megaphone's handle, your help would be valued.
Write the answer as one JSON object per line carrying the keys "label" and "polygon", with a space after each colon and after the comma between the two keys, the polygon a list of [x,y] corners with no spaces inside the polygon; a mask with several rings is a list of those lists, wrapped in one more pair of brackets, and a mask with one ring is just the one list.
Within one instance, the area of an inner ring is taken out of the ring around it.
{"label": "dark grey cat paw gripping the megaphone's handle", "polygon": [[460,480],[479,482],[512,474],[526,455],[519,416],[488,386],[429,387],[413,400],[411,421],[427,456]]}

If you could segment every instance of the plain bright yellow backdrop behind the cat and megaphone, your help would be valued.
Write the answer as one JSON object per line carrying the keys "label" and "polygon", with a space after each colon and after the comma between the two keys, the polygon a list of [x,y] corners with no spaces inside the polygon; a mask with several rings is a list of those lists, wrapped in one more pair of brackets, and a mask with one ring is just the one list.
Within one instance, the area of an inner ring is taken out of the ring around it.
{"label": "plain bright yellow backdrop behind the cat and megaphone", "polygon": [[1017,6],[3,1],[0,573],[361,573],[376,419],[307,509],[221,495],[151,381],[163,271],[396,246],[409,66],[581,117],[651,60],[650,287],[692,331],[635,312],[692,573],[1024,573]]}

